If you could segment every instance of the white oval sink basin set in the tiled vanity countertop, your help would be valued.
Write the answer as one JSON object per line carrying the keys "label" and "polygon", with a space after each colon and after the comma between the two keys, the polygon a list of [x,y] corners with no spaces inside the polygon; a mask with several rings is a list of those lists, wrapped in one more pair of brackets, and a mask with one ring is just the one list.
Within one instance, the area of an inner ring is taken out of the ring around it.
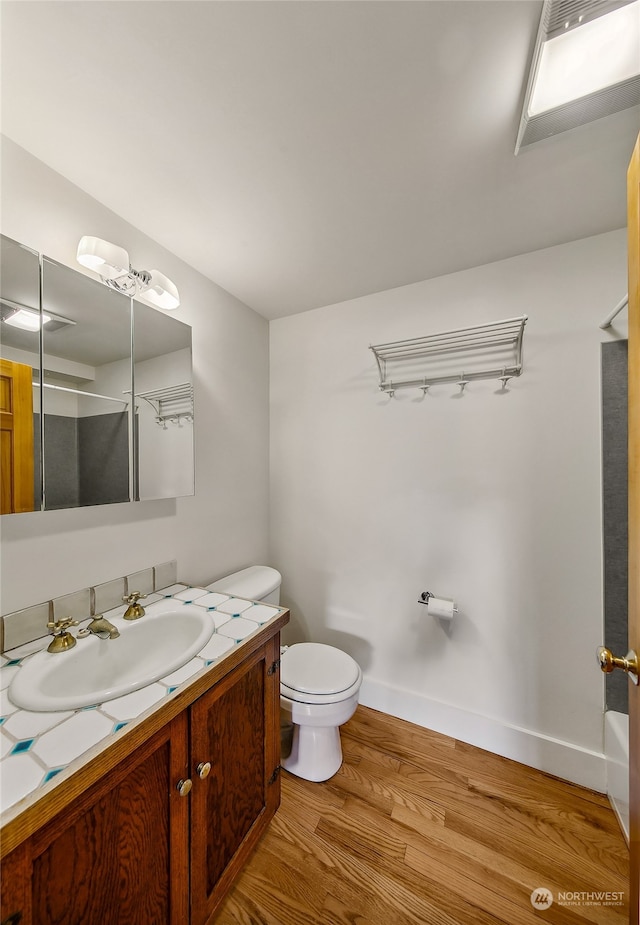
{"label": "white oval sink basin set in the tiled vanity countertop", "polygon": [[32,655],[17,672],[9,698],[25,710],[75,710],[139,690],[185,665],[215,628],[193,604],[158,601],[139,620],[111,621],[117,639],[88,636],[68,652]]}

